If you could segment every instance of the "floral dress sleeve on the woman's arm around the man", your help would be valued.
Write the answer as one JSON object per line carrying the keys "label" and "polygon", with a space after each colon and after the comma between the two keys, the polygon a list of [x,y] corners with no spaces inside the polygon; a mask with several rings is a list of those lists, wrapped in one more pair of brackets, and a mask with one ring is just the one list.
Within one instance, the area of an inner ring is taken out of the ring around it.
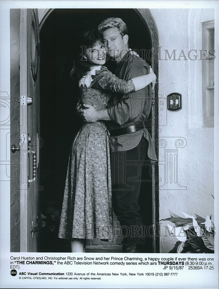
{"label": "floral dress sleeve on the woman's arm around the man", "polygon": [[96,71],[96,75],[92,78],[92,88],[111,90],[122,94],[135,91],[135,85],[132,79],[128,81],[120,79],[105,67],[100,71]]}

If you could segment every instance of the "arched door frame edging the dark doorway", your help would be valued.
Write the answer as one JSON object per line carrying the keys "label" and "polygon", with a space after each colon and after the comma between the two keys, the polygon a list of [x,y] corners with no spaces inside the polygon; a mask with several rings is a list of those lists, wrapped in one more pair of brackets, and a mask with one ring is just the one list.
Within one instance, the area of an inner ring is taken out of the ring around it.
{"label": "arched door frame edging the dark doorway", "polygon": [[[41,30],[48,16],[56,9],[45,9],[43,14],[39,16],[39,29]],[[155,85],[154,100],[152,105],[152,142],[155,147],[157,158],[159,159],[159,119],[158,119],[158,88],[159,88],[159,34],[157,25],[150,12],[150,9],[137,8],[134,9],[142,21],[145,23],[149,31],[152,41],[152,69],[157,75],[157,83]],[[152,164],[152,239],[153,239],[153,253],[160,252],[159,239],[159,165]]]}

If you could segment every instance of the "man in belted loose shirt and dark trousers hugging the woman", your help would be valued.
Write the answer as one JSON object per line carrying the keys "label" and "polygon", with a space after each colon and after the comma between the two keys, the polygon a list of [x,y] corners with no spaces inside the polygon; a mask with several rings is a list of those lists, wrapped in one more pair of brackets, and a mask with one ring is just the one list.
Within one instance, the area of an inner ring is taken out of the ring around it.
{"label": "man in belted loose shirt and dark trousers hugging the woman", "polygon": [[[107,18],[98,27],[105,49],[117,68],[115,74],[125,80],[150,72],[149,65],[131,55],[128,31],[120,18]],[[153,86],[154,86],[153,82]],[[144,244],[142,217],[138,205],[143,162],[157,161],[151,137],[144,126],[152,104],[151,85],[128,95],[115,94],[108,109],[90,105],[80,109],[88,122],[108,121],[111,141],[113,209],[122,227],[123,252],[139,253]]]}

